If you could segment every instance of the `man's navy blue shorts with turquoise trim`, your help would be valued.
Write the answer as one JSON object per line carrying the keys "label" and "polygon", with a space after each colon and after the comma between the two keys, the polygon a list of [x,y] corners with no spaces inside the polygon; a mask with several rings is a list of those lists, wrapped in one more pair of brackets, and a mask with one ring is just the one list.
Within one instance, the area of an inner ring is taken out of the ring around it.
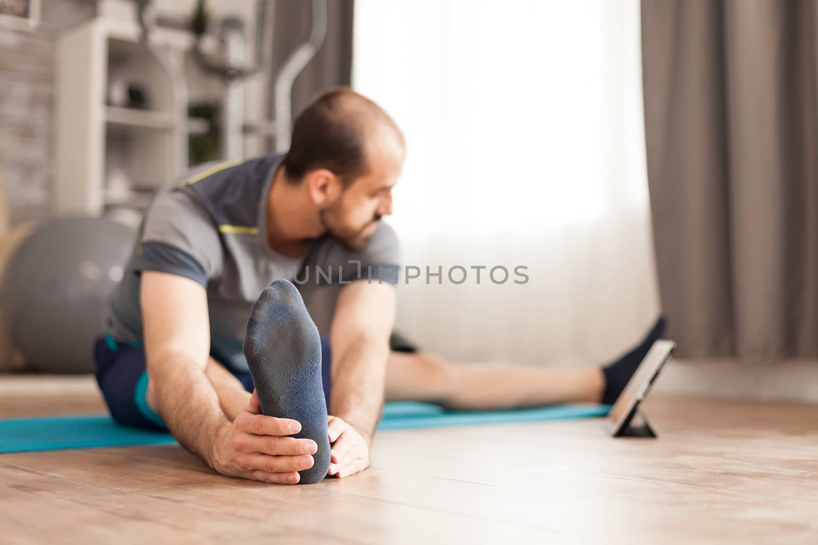
{"label": "man's navy blue shorts with turquoise trim", "polygon": [[[114,337],[106,335],[97,339],[94,360],[97,362],[97,384],[111,416],[117,422],[135,427],[167,429],[162,418],[148,407],[145,399],[148,375],[142,346],[137,342],[116,342]],[[321,337],[321,381],[327,406],[330,405],[332,386],[331,361],[330,338]],[[249,372],[233,374],[246,391],[253,391],[253,377]]]}

